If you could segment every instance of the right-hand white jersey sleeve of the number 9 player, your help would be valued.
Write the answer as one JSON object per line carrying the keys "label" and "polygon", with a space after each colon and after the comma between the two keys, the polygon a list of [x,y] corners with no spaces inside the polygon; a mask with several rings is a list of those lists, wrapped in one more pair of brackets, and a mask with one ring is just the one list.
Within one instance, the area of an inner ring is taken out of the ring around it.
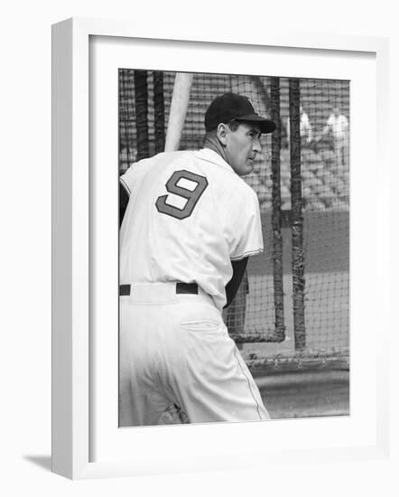
{"label": "right-hand white jersey sleeve of the number 9 player", "polygon": [[248,185],[231,216],[230,259],[239,260],[263,252],[262,223],[256,193]]}

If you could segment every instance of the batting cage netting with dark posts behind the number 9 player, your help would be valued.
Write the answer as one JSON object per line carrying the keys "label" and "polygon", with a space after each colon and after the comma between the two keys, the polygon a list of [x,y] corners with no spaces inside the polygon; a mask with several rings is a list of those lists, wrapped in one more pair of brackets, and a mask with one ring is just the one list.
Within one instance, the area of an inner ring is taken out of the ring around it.
{"label": "batting cage netting with dark posts behind the number 9 player", "polygon": [[[161,152],[176,73],[119,70],[119,173]],[[194,74],[180,149],[202,146],[204,115],[225,92],[277,123],[254,172],[264,253],[225,312],[249,365],[349,359],[349,81]]]}

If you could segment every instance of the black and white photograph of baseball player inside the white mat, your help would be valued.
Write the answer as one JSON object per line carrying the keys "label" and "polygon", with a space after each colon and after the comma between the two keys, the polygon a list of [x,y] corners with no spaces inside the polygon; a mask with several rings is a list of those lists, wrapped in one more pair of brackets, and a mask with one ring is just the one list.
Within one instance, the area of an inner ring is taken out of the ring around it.
{"label": "black and white photograph of baseball player inside the white mat", "polygon": [[118,70],[119,427],[350,415],[350,81]]}

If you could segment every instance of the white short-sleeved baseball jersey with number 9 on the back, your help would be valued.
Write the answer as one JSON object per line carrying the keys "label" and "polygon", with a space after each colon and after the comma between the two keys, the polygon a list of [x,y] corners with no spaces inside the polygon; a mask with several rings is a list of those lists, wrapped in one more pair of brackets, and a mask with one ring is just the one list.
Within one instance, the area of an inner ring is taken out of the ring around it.
{"label": "white short-sleeved baseball jersey with number 9 on the back", "polygon": [[121,177],[130,194],[120,283],[196,282],[226,304],[231,260],[263,250],[255,192],[210,149],[155,155]]}

